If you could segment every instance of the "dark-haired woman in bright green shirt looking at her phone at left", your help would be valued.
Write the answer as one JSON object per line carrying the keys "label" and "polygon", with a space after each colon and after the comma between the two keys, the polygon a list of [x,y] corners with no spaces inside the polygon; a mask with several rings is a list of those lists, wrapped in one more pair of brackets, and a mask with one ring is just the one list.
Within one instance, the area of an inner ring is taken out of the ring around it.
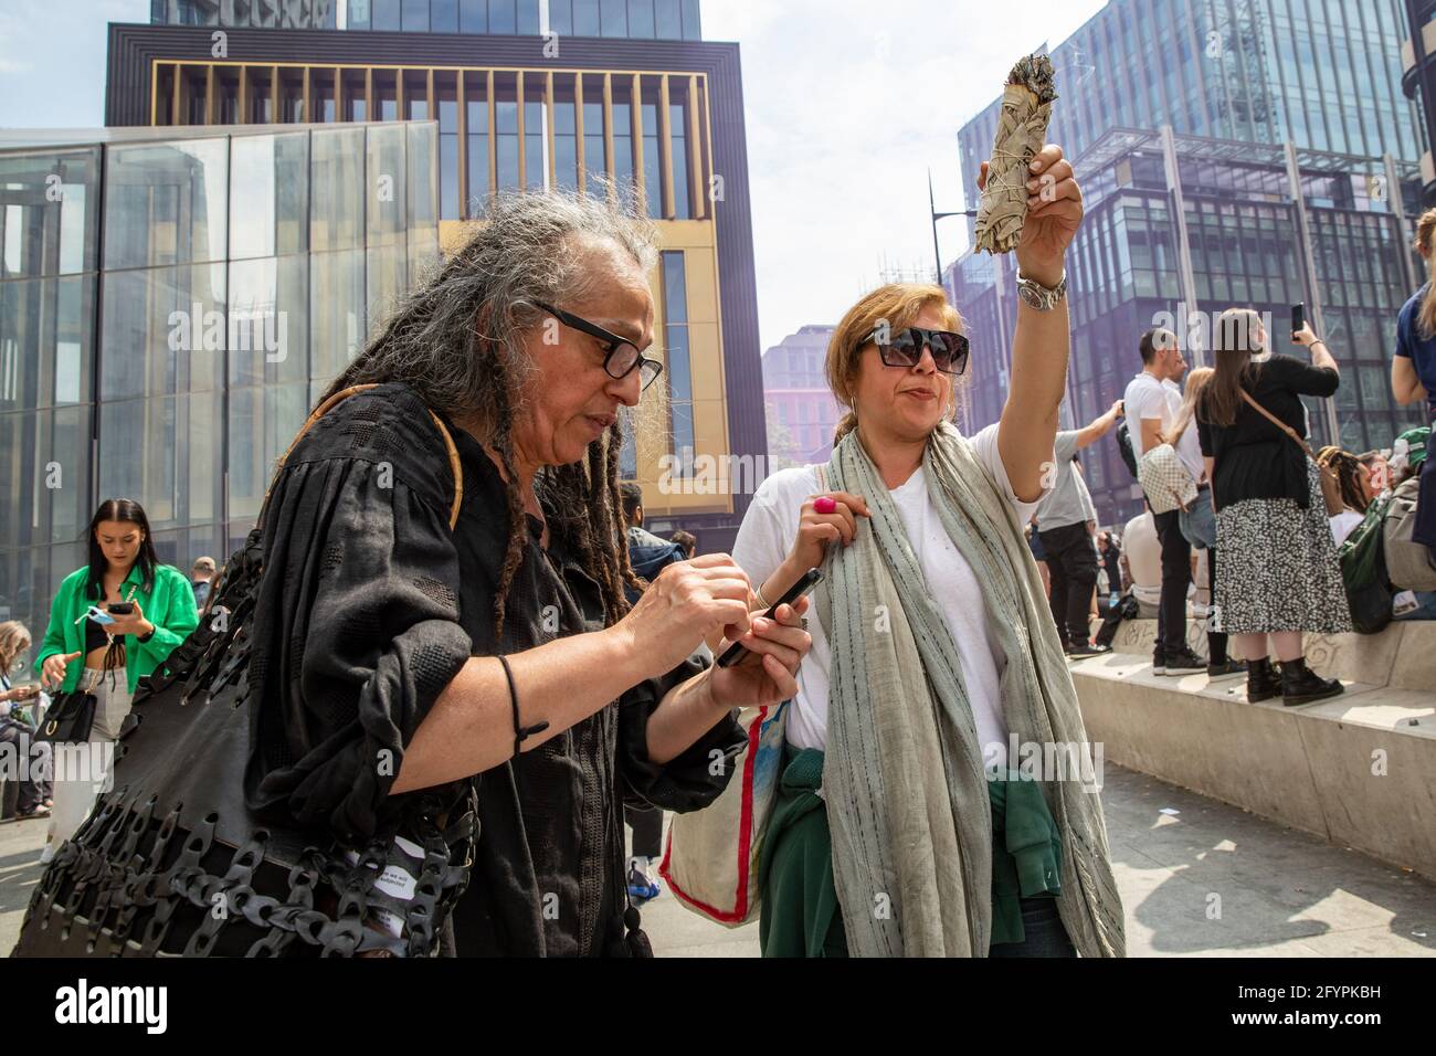
{"label": "dark-haired woman in bright green shirt looking at her phone at left", "polygon": [[[119,611],[111,615],[111,606]],[[109,619],[96,621],[96,612]],[[101,503],[89,526],[89,565],[67,575],[56,590],[34,661],[52,693],[85,690],[96,698],[89,750],[56,753],[55,810],[40,861],[49,862],[89,815],[139,680],[198,622],[190,580],[159,563],[139,503]]]}

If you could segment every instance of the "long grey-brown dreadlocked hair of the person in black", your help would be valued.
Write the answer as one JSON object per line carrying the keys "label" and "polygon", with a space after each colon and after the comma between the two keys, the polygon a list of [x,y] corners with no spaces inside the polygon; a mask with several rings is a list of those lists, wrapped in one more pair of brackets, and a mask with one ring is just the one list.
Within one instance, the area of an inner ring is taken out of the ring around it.
{"label": "long grey-brown dreadlocked hair of the person in black", "polygon": [[[494,195],[468,241],[399,302],[319,401],[352,385],[404,382],[432,409],[477,424],[478,438],[498,457],[508,507],[508,546],[494,598],[495,636],[504,631],[505,602],[528,536],[513,430],[526,381],[536,371],[523,338],[544,318],[537,303],[582,300],[605,283],[606,274],[586,266],[582,250],[587,246],[616,246],[645,273],[656,263],[653,226],[633,216],[612,185],[600,181],[599,195]],[[625,420],[632,415],[620,412],[589,444],[587,458],[546,466],[534,478],[540,500],[556,511],[550,526],[564,533],[599,583],[607,625],[629,609],[623,585],[640,588],[629,565],[619,500]]]}

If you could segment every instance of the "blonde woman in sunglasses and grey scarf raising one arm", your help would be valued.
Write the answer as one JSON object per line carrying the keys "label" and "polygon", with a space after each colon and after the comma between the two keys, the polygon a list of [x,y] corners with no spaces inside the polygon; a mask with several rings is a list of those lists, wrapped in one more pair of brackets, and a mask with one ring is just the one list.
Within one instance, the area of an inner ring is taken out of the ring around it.
{"label": "blonde woman in sunglasses and grey scarf raising one arm", "polygon": [[1017,249],[1001,424],[952,425],[968,339],[945,292],[879,287],[829,345],[849,408],[831,461],[768,477],[738,532],[760,605],[826,573],[760,862],[764,955],[1124,953],[1091,783],[1018,773],[1010,751],[1086,747],[1022,536],[1053,464],[1083,216],[1061,148],[1037,155],[1034,195],[1038,174],[1053,193],[1030,200]]}

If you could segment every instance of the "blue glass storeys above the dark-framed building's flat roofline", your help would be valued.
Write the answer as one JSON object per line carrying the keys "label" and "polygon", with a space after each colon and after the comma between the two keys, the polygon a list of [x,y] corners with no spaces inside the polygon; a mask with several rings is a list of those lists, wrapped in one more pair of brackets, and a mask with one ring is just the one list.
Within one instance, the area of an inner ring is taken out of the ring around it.
{"label": "blue glass storeys above the dark-framed building's flat roofline", "polygon": [[702,40],[698,0],[151,0],[171,26]]}

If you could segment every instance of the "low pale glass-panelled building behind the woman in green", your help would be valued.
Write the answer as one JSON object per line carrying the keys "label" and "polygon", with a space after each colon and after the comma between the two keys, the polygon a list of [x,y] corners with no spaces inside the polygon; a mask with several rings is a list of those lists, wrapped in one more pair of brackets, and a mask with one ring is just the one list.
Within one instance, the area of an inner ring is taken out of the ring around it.
{"label": "low pale glass-panelled building behind the woman in green", "polygon": [[0,132],[0,619],[39,641],[99,500],[223,562],[438,260],[432,122]]}

